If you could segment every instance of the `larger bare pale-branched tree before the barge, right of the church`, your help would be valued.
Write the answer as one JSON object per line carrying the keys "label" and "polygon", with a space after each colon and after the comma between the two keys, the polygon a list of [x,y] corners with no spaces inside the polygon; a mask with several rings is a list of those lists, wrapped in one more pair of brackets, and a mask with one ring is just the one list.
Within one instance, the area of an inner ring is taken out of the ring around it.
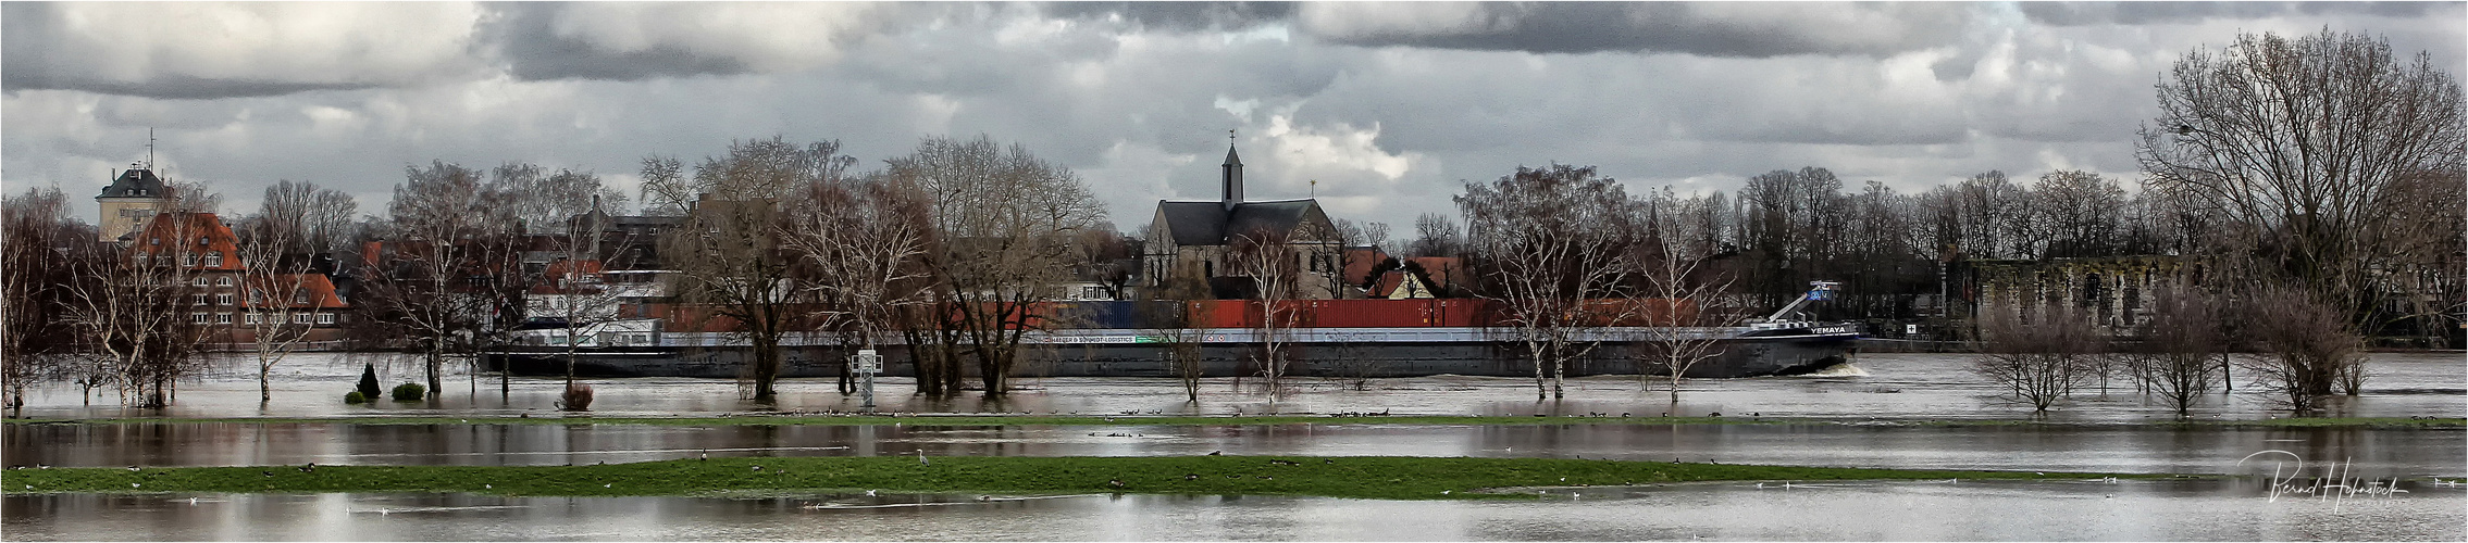
{"label": "larger bare pale-branched tree before the barge, right of the church", "polygon": [[[1505,333],[1535,363],[1535,397],[1562,397],[1570,360],[1592,353],[1589,328],[1619,316],[1594,299],[1626,294],[1634,200],[1594,168],[1518,168],[1491,185],[1468,183],[1466,215],[1483,299],[1505,309]],[[1626,309],[1619,304],[1617,309]]]}

